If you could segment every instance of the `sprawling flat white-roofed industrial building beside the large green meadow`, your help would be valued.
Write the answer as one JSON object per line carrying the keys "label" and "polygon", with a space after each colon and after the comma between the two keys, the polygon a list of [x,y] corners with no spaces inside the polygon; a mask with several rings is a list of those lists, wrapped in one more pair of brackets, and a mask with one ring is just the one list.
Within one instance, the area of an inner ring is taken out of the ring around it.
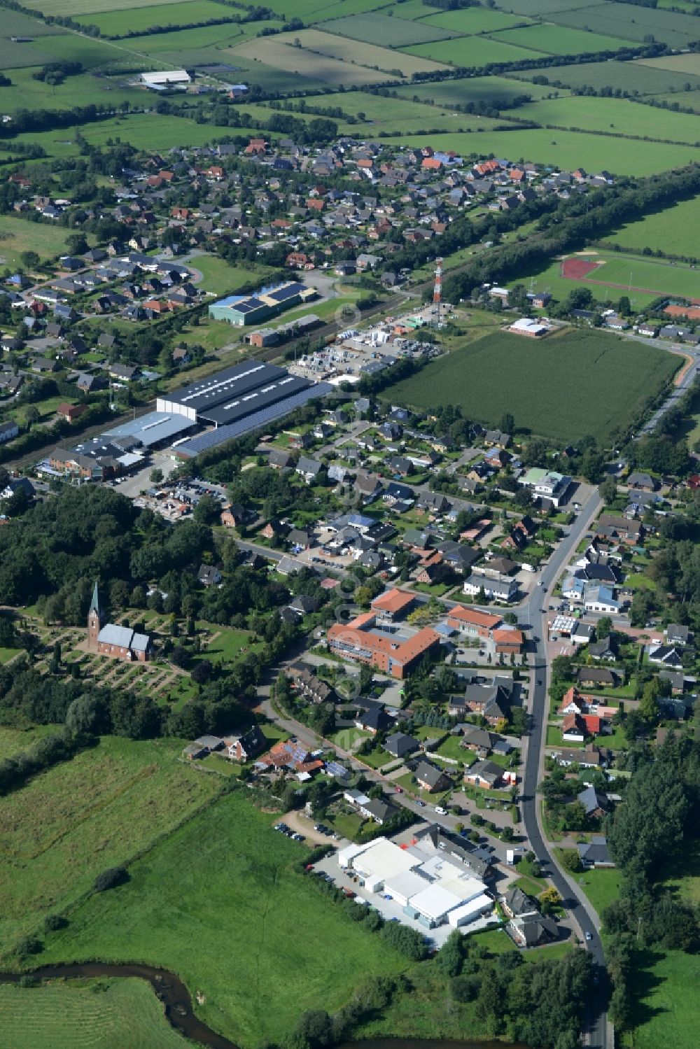
{"label": "sprawling flat white-roofed industrial building beside the large green meadow", "polygon": [[390,897],[403,914],[434,928],[466,925],[493,908],[486,884],[470,870],[418,845],[397,845],[388,838],[351,844],[338,853],[341,869],[352,871],[368,893]]}

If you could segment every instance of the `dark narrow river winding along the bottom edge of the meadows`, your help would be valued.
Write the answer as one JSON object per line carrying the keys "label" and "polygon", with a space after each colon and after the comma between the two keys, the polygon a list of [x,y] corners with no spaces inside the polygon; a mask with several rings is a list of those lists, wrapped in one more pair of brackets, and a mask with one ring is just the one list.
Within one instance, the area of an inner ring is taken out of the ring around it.
{"label": "dark narrow river winding along the bottom edge of the meadows", "polygon": [[[19,983],[20,972],[0,972],[0,983]],[[192,1008],[190,992],[173,972],[150,965],[110,965],[106,962],[82,962],[75,965],[45,965],[31,973],[38,980],[99,980],[103,977],[140,977],[147,980],[163,1002],[165,1014],[181,1034],[210,1049],[238,1049],[233,1042],[217,1034],[199,1020]],[[442,1042],[438,1039],[374,1039],[368,1042],[346,1042],[339,1049],[527,1049],[504,1042]]]}

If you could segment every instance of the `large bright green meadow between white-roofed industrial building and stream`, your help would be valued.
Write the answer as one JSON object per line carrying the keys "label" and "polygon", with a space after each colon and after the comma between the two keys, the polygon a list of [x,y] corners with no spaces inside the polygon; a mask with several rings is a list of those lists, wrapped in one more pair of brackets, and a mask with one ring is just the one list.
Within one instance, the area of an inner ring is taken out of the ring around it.
{"label": "large bright green meadow between white-roofed industrial building and stream", "polygon": [[363,980],[404,969],[290,870],[305,847],[273,822],[243,791],[221,797],[132,864],[129,883],[78,907],[43,959],[163,965],[204,993],[201,1018],[243,1047],[278,1041],[305,1009],[337,1009]]}

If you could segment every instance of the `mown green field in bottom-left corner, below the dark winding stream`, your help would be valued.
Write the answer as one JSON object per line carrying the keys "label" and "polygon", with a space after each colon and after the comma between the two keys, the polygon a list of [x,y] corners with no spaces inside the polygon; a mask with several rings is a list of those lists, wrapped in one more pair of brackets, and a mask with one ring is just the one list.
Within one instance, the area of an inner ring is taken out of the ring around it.
{"label": "mown green field in bottom-left corner, below the dark winding stream", "polygon": [[186,1049],[145,980],[0,987],[3,1049]]}

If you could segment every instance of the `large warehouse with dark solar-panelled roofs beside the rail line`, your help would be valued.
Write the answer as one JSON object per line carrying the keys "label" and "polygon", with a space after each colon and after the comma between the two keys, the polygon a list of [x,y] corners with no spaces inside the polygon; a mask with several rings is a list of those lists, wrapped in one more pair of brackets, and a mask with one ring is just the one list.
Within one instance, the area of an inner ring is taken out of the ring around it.
{"label": "large warehouse with dark solar-panelled roofs beside the rail line", "polygon": [[156,410],[169,419],[179,418],[189,421],[190,425],[210,428],[206,433],[177,443],[177,455],[191,458],[233,437],[260,429],[332,390],[328,383],[314,383],[291,376],[276,364],[252,360],[160,397]]}

